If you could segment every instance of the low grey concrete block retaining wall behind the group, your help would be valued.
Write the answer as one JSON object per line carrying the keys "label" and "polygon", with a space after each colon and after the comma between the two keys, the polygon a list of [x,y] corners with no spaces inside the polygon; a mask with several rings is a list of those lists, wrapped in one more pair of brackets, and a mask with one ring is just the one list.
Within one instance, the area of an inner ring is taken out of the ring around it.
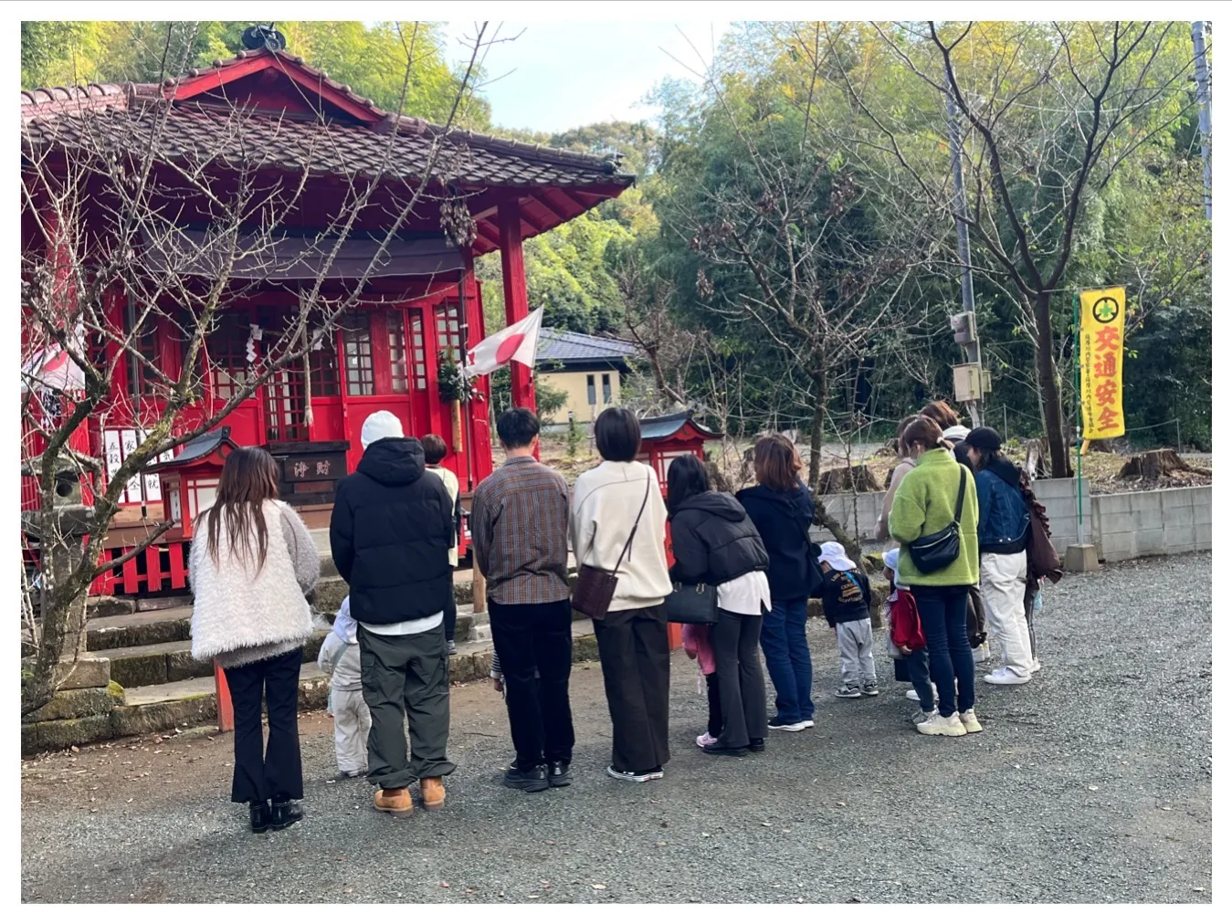
{"label": "low grey concrete block retaining wall behind the group", "polygon": [[[1032,487],[1047,508],[1052,545],[1063,554],[1079,542],[1077,479],[1044,479]],[[885,492],[835,495],[825,499],[825,509],[849,533],[869,542],[885,496]],[[1210,485],[1092,496],[1084,478],[1082,506],[1082,537],[1105,562],[1211,548]]]}

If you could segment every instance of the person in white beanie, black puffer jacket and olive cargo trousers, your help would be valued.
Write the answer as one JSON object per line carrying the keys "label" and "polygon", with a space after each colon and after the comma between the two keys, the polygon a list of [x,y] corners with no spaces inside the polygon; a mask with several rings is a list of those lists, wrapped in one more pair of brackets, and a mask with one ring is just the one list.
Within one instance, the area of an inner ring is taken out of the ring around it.
{"label": "person in white beanie, black puffer jacket and olive cargo trousers", "polygon": [[[372,713],[368,781],[373,806],[403,817],[419,780],[425,808],[441,808],[450,734],[445,605],[453,593],[453,504],[440,478],[424,477],[424,447],[393,414],[363,421],[363,458],[338,484],[329,545],[351,589],[359,623],[363,700]],[[405,723],[414,748],[407,759]]]}

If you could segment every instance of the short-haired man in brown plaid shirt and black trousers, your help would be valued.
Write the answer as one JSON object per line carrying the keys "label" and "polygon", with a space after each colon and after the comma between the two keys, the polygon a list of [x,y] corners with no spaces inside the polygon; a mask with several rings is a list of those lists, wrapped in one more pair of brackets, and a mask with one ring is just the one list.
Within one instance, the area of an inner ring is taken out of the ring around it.
{"label": "short-haired man in brown plaid shirt and black trousers", "polygon": [[492,641],[517,750],[505,786],[525,792],[568,786],[573,759],[569,485],[535,460],[538,430],[526,408],[500,415],[496,435],[508,461],[479,482],[471,505],[471,538],[488,579]]}

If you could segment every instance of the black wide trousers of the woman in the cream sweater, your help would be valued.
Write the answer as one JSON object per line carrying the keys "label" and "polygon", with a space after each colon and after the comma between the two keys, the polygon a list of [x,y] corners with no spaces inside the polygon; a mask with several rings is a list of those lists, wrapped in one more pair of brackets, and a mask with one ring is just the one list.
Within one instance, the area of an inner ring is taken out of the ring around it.
{"label": "black wide trousers of the woman in the cream sweater", "polygon": [[612,766],[621,772],[668,763],[667,610],[616,610],[595,620],[604,691],[612,717]]}

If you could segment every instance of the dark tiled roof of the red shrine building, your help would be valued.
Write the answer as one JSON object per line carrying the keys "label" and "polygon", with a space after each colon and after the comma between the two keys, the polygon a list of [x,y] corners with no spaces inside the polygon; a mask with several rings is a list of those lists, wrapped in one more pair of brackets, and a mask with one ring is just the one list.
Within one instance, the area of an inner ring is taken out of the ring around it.
{"label": "dark tiled roof of the red shrine building", "polygon": [[[290,115],[239,112],[200,99],[168,97],[187,81],[225,71],[255,55],[272,58],[271,67],[294,68],[322,86],[342,94],[371,116],[372,124],[335,120],[322,124]],[[168,107],[170,106],[170,111]],[[144,153],[154,138],[165,161],[245,164],[344,175],[395,176],[416,180],[429,169],[432,143],[442,140],[435,171],[467,186],[630,186],[633,176],[620,172],[618,155],[593,155],[545,148],[478,132],[450,129],[384,112],[280,52],[241,52],[213,68],[190,71],[179,80],[156,84],[90,84],[21,92],[22,144],[80,145]],[[158,131],[159,121],[166,127]],[[391,136],[393,136],[391,138]]]}

